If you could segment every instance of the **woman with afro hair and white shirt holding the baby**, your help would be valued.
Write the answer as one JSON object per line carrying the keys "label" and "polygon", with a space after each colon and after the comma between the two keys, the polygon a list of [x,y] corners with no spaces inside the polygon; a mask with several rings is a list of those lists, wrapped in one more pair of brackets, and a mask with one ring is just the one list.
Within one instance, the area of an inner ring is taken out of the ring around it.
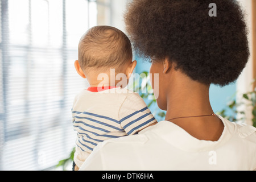
{"label": "woman with afro hair and white shirt holding the baby", "polygon": [[[246,23],[236,1],[134,0],[125,14],[135,50],[159,74],[165,121],[138,135],[99,144],[86,170],[253,170],[256,129],[213,113],[210,84],[234,82],[248,57]],[[210,16],[209,11],[217,16]],[[154,79],[152,79],[154,80]]]}

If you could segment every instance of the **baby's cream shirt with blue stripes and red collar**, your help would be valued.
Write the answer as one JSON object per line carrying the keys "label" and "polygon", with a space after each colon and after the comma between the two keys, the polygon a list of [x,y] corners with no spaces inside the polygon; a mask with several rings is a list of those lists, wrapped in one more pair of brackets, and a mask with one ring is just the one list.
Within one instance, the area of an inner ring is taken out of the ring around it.
{"label": "baby's cream shirt with blue stripes and red collar", "polygon": [[72,117],[77,131],[74,161],[78,167],[99,142],[137,134],[156,122],[138,93],[121,88],[82,90],[73,102]]}

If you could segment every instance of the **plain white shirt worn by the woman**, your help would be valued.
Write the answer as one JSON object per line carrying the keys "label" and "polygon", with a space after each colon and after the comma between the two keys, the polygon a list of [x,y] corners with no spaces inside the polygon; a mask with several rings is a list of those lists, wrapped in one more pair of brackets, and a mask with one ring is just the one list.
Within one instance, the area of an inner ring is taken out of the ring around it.
{"label": "plain white shirt worn by the woman", "polygon": [[216,142],[160,121],[138,135],[98,144],[80,170],[255,170],[255,127],[218,117],[224,131]]}

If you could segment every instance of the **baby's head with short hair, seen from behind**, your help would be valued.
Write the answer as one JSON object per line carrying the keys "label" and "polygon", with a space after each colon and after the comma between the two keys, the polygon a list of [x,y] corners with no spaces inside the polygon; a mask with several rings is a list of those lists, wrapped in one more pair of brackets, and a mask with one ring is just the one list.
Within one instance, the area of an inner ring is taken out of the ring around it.
{"label": "baby's head with short hair, seen from behind", "polygon": [[110,69],[115,69],[115,75],[124,73],[128,76],[133,72],[134,62],[131,42],[122,31],[110,26],[96,26],[82,35],[75,67],[80,76],[88,78],[90,85],[96,85],[97,75],[109,74]]}

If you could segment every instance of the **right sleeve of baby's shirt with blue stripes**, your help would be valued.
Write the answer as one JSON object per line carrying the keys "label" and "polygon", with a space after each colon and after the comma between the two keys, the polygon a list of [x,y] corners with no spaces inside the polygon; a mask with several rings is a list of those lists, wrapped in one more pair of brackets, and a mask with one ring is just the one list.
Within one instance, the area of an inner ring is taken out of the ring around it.
{"label": "right sleeve of baby's shirt with blue stripes", "polygon": [[120,125],[127,135],[133,135],[157,123],[138,93],[129,94],[119,110]]}

